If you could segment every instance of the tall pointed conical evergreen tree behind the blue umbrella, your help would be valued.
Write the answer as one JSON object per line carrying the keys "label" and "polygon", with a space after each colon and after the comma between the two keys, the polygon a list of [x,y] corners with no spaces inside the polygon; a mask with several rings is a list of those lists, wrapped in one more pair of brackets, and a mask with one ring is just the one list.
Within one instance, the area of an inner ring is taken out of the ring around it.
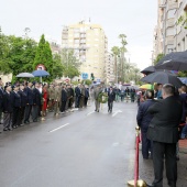
{"label": "tall pointed conical evergreen tree behind the blue umbrella", "polygon": [[36,55],[33,64],[33,69],[36,68],[38,64],[45,66],[46,70],[50,73],[50,77],[46,80],[51,81],[54,77],[53,75],[53,55],[48,42],[45,41],[44,34],[41,36],[38,46],[36,48]]}

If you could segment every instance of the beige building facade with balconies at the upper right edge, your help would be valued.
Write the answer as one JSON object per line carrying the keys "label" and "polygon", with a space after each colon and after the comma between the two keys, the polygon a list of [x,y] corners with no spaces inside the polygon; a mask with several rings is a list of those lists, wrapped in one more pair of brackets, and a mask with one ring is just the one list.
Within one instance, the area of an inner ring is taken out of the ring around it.
{"label": "beige building facade with balconies at the upper right edge", "polygon": [[187,50],[187,0],[158,0],[153,61],[161,53]]}

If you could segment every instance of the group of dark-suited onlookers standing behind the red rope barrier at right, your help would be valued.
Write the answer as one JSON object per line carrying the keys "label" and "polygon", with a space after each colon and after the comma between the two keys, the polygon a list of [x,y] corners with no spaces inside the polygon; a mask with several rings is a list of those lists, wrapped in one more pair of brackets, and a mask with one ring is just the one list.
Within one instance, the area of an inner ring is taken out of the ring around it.
{"label": "group of dark-suited onlookers standing behind the red rope barrier at right", "polygon": [[176,187],[178,140],[187,138],[187,87],[156,85],[143,92],[136,121],[142,134],[142,155],[154,166],[153,187],[163,187],[164,158],[168,186]]}

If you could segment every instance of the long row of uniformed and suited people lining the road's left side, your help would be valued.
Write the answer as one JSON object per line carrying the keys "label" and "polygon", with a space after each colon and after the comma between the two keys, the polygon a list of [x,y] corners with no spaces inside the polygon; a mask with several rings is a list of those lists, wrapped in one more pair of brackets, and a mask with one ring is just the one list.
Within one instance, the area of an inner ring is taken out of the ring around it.
{"label": "long row of uniformed and suited people lining the road's left side", "polygon": [[11,85],[0,79],[0,123],[3,131],[12,131],[18,127],[44,121],[48,112],[54,116],[73,112],[75,108],[87,107],[89,88],[85,85],[59,85],[23,82]]}

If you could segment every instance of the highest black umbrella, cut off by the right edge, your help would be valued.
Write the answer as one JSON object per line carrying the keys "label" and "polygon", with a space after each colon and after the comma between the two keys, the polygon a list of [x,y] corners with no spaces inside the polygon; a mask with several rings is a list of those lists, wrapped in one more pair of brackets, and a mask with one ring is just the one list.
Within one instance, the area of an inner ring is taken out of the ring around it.
{"label": "highest black umbrella, cut off by the right edge", "polygon": [[164,56],[155,65],[155,69],[187,70],[187,51],[175,52]]}

